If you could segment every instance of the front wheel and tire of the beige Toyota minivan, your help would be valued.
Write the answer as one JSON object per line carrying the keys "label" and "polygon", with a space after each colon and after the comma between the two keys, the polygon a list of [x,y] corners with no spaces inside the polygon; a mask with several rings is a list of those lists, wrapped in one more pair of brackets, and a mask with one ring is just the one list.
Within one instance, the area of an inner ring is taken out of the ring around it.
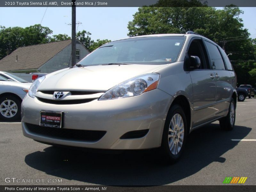
{"label": "front wheel and tire of the beige Toyota minivan", "polygon": [[[178,122],[180,123],[176,123]],[[183,122],[183,124],[182,124]],[[176,124],[176,126],[175,126]],[[167,114],[161,143],[161,156],[164,163],[172,164],[179,160],[187,140],[187,120],[180,105],[173,105]]]}

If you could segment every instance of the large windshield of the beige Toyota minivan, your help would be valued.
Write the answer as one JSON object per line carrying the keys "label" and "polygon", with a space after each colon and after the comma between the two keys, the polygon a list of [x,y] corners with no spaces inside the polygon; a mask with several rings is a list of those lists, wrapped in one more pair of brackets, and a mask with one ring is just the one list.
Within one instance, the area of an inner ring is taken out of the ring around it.
{"label": "large windshield of the beige Toyota minivan", "polygon": [[86,56],[80,65],[147,64],[176,62],[184,44],[184,36],[157,36],[124,39],[105,44]]}

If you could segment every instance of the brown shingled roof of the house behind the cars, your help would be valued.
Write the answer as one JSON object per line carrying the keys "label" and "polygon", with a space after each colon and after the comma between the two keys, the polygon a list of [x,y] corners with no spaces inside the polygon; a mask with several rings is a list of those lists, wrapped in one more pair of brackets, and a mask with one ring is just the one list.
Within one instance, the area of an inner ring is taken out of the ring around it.
{"label": "brown shingled roof of the house behind the cars", "polygon": [[69,44],[71,39],[19,47],[0,60],[0,71],[37,69]]}

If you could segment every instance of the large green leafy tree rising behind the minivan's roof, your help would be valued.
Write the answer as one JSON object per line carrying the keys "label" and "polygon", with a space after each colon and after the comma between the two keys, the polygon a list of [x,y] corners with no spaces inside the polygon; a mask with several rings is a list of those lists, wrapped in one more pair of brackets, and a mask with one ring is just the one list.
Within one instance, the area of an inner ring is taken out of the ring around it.
{"label": "large green leafy tree rising behind the minivan's roof", "polygon": [[[171,3],[175,0],[170,0]],[[186,1],[186,0],[184,0]],[[158,3],[161,3],[159,1]],[[166,2],[166,1],[163,1]],[[169,3],[170,3],[169,2]],[[194,1],[194,3],[200,3]],[[255,84],[252,77],[255,40],[239,17],[243,11],[234,5],[217,10],[214,7],[140,7],[128,22],[128,36],[186,33],[194,31],[223,47],[237,73],[238,84]]]}

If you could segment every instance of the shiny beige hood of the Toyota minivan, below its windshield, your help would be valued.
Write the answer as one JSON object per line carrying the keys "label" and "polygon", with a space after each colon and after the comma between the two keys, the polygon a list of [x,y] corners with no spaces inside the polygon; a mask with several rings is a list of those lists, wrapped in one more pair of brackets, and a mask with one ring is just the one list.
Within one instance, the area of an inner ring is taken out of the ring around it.
{"label": "shiny beige hood of the Toyota minivan, below its windshield", "polygon": [[[168,65],[168,64],[167,64]],[[97,65],[67,68],[46,75],[38,91],[102,91],[166,65]]]}

